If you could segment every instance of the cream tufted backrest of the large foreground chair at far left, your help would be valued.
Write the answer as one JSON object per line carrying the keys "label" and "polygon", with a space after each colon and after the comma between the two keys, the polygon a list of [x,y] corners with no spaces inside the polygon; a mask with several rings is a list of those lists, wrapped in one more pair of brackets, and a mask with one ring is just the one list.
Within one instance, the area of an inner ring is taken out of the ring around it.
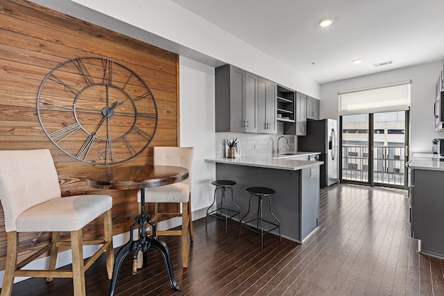
{"label": "cream tufted backrest of the large foreground chair at far left", "polygon": [[37,204],[61,198],[58,175],[47,149],[0,150],[0,200],[6,232],[17,216]]}

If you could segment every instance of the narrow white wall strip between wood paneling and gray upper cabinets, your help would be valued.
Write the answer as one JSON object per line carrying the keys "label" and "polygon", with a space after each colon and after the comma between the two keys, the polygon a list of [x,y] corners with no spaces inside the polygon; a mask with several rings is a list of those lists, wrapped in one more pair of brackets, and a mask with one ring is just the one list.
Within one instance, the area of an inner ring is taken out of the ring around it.
{"label": "narrow white wall strip between wood paneling and gray upper cabinets", "polygon": [[[213,200],[211,182],[216,177],[214,119],[214,68],[180,57],[180,146],[194,147],[191,180],[193,220],[206,214]],[[205,211],[203,211],[205,209]]]}

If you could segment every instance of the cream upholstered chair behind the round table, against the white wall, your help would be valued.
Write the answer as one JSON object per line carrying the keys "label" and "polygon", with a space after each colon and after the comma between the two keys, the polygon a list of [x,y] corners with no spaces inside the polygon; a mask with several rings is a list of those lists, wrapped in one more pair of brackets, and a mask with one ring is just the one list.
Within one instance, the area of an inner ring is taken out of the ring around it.
{"label": "cream upholstered chair behind the round table, against the white wall", "polygon": [[[191,220],[191,163],[193,162],[194,147],[154,147],[154,161],[156,166],[181,166],[187,168],[189,177],[187,180],[167,186],[145,189],[145,201],[154,203],[154,214],[151,220],[157,224],[162,217],[182,217],[182,229],[156,230],[157,236],[182,236],[182,267],[188,266],[188,233],[190,241],[193,241],[193,225]],[[140,202],[140,193],[138,195]],[[178,202],[182,204],[182,213],[164,213],[158,211],[160,202]],[[152,234],[150,232],[150,234]],[[140,267],[139,262],[139,267]]]}

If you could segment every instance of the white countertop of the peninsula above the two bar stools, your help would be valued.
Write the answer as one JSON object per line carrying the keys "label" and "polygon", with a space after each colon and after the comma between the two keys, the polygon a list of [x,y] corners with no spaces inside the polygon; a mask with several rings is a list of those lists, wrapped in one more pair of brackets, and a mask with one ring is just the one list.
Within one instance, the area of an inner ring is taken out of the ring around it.
{"label": "white countertop of the peninsula above the two bar stools", "polygon": [[302,153],[295,155],[248,155],[236,158],[206,158],[205,162],[216,162],[219,164],[234,164],[238,166],[255,166],[258,168],[276,168],[280,170],[298,171],[303,168],[320,166],[324,162],[289,159],[302,155],[316,155],[319,153]]}

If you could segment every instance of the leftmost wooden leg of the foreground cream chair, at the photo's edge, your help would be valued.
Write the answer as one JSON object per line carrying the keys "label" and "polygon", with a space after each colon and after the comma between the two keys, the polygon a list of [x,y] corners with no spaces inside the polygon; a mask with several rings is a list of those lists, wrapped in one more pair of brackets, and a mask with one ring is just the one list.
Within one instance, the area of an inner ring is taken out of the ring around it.
{"label": "leftmost wooden leg of the foreground cream chair, at the photo's edge", "polygon": [[6,247],[6,266],[3,277],[3,288],[1,296],[10,296],[12,285],[14,284],[14,271],[17,266],[17,246],[19,245],[19,234],[17,232],[8,232],[8,245]]}

